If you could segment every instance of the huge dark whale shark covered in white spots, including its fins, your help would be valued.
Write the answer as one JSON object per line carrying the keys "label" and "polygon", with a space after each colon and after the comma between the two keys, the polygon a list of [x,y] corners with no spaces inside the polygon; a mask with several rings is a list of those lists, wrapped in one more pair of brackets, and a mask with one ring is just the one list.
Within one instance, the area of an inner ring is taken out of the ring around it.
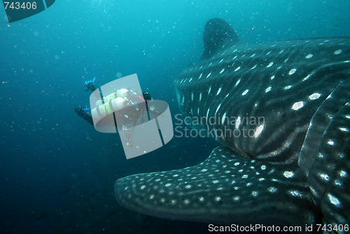
{"label": "huge dark whale shark covered in white spots, including its fins", "polygon": [[183,115],[221,146],[117,180],[118,203],[216,224],[349,224],[350,38],[248,45],[220,19],[203,35],[200,62],[174,85]]}

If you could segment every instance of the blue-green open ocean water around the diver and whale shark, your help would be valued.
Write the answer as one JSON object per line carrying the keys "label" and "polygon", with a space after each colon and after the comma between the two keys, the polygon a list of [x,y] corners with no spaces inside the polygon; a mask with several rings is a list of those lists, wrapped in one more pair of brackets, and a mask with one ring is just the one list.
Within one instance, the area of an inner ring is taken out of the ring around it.
{"label": "blue-green open ocean water around the diver and whale shark", "polygon": [[117,134],[98,133],[73,111],[88,105],[84,82],[137,73],[143,91],[167,101],[174,117],[180,110],[172,82],[199,60],[207,20],[227,20],[246,43],[350,36],[349,8],[346,0],[57,0],[8,24],[1,6],[1,233],[206,232],[207,224],[126,210],[113,184],[192,166],[218,143],[174,138],[126,160]]}

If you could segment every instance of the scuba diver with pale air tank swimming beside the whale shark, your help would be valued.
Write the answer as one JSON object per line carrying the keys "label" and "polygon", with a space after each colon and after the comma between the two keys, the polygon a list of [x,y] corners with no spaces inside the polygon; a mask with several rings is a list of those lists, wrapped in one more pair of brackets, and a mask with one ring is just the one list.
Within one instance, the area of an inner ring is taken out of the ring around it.
{"label": "scuba diver with pale air tank swimming beside the whale shark", "polygon": [[[96,78],[85,81],[87,87],[85,91],[90,90],[94,92],[96,90],[94,86],[95,80]],[[143,124],[148,121],[150,113],[155,116],[160,115],[160,112],[157,112],[152,105],[152,101],[152,96],[148,92],[143,92],[141,96],[132,89],[118,89],[116,92],[105,96],[103,100],[99,99],[96,103],[96,108],[90,110],[87,106],[85,108],[76,106],[74,111],[92,125],[94,125],[92,116],[94,116],[96,121],[96,119],[101,120],[106,115],[114,112],[116,119],[118,119],[118,130],[123,131],[125,138],[127,138],[126,145],[132,146],[134,127],[140,122]],[[148,120],[145,121],[145,117],[148,117]]]}

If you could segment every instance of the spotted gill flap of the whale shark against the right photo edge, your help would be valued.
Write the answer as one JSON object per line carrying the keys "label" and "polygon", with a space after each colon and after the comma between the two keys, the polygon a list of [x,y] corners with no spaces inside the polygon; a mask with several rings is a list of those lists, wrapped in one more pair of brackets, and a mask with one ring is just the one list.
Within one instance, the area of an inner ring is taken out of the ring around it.
{"label": "spotted gill flap of the whale shark against the right photo edge", "polygon": [[309,173],[311,194],[316,203],[321,203],[325,224],[349,224],[349,126],[350,103],[346,103],[328,124]]}

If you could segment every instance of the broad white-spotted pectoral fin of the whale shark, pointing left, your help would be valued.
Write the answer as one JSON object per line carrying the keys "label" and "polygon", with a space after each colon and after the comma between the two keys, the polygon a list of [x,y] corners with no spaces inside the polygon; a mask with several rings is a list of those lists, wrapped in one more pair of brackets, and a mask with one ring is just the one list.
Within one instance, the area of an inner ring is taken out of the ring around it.
{"label": "broad white-spotted pectoral fin of the whale shark, pointing left", "polygon": [[301,170],[245,159],[223,146],[196,166],[131,175],[114,189],[128,209],[168,219],[304,225],[317,216]]}

